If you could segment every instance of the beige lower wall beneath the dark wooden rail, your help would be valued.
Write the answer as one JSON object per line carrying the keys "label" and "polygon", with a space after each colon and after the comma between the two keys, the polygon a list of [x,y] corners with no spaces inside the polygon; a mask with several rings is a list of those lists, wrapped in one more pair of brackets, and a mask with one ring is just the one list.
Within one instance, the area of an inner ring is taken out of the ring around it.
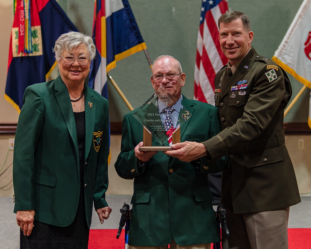
{"label": "beige lower wall beneath the dark wooden rail", "polygon": [[[7,155],[9,138],[12,136],[0,135],[0,167]],[[304,148],[301,148],[302,140]],[[311,192],[311,136],[310,135],[287,135],[286,145],[293,161],[299,192],[301,194]],[[132,195],[133,181],[120,178],[114,170],[114,162],[120,152],[121,135],[111,135],[111,162],[109,164],[109,188],[108,195]],[[299,147],[300,146],[300,147]],[[13,152],[9,151],[4,169],[13,161]],[[2,170],[3,171],[3,170]],[[0,174],[2,173],[0,172]],[[0,196],[12,196],[12,166],[0,176]]]}

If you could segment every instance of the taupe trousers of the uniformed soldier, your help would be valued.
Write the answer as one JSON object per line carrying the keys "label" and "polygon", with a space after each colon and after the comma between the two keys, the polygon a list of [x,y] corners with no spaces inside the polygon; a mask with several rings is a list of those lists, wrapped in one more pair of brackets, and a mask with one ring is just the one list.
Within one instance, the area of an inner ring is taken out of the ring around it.
{"label": "taupe trousers of the uniformed soldier", "polygon": [[222,249],[288,249],[289,210],[233,214],[226,209],[230,236],[222,231]]}

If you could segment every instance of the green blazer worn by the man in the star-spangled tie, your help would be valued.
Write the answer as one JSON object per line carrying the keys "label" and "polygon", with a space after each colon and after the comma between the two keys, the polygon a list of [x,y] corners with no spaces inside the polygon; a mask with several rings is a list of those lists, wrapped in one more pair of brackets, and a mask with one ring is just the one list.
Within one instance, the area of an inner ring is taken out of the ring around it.
{"label": "green blazer worn by the man in the star-spangled tie", "polygon": [[[180,128],[182,142],[200,143],[220,131],[214,106],[185,96],[182,105],[192,114]],[[119,176],[134,179],[128,244],[162,246],[172,238],[179,245],[219,241],[207,173],[221,171],[225,158],[182,162],[158,152],[140,167],[134,147],[142,141],[143,129],[133,117],[136,110],[124,115],[121,152],[114,165]],[[152,139],[153,146],[160,146]]]}

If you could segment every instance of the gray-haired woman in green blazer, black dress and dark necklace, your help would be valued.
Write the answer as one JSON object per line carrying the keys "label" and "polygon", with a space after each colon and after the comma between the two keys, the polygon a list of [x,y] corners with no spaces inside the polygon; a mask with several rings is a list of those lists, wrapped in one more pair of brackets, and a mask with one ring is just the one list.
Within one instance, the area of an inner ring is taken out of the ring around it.
{"label": "gray-haired woman in green blazer, black dress and dark necklace", "polygon": [[95,58],[79,32],[55,43],[60,76],[27,87],[16,129],[13,183],[20,248],[87,248],[93,201],[109,217],[108,101],[87,87]]}

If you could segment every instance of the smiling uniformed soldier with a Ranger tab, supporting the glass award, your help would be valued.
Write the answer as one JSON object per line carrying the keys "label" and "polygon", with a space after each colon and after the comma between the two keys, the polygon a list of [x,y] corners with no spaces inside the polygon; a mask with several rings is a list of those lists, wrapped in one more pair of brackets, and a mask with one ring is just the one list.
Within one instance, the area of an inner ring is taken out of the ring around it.
{"label": "smiling uniformed soldier with a Ranger tab, supporting the glass award", "polygon": [[281,67],[251,47],[247,15],[227,12],[218,26],[228,58],[215,78],[222,131],[203,143],[177,143],[165,153],[186,162],[229,154],[221,199],[230,237],[223,237],[222,248],[286,249],[289,207],[300,202],[283,131],[290,82]]}

